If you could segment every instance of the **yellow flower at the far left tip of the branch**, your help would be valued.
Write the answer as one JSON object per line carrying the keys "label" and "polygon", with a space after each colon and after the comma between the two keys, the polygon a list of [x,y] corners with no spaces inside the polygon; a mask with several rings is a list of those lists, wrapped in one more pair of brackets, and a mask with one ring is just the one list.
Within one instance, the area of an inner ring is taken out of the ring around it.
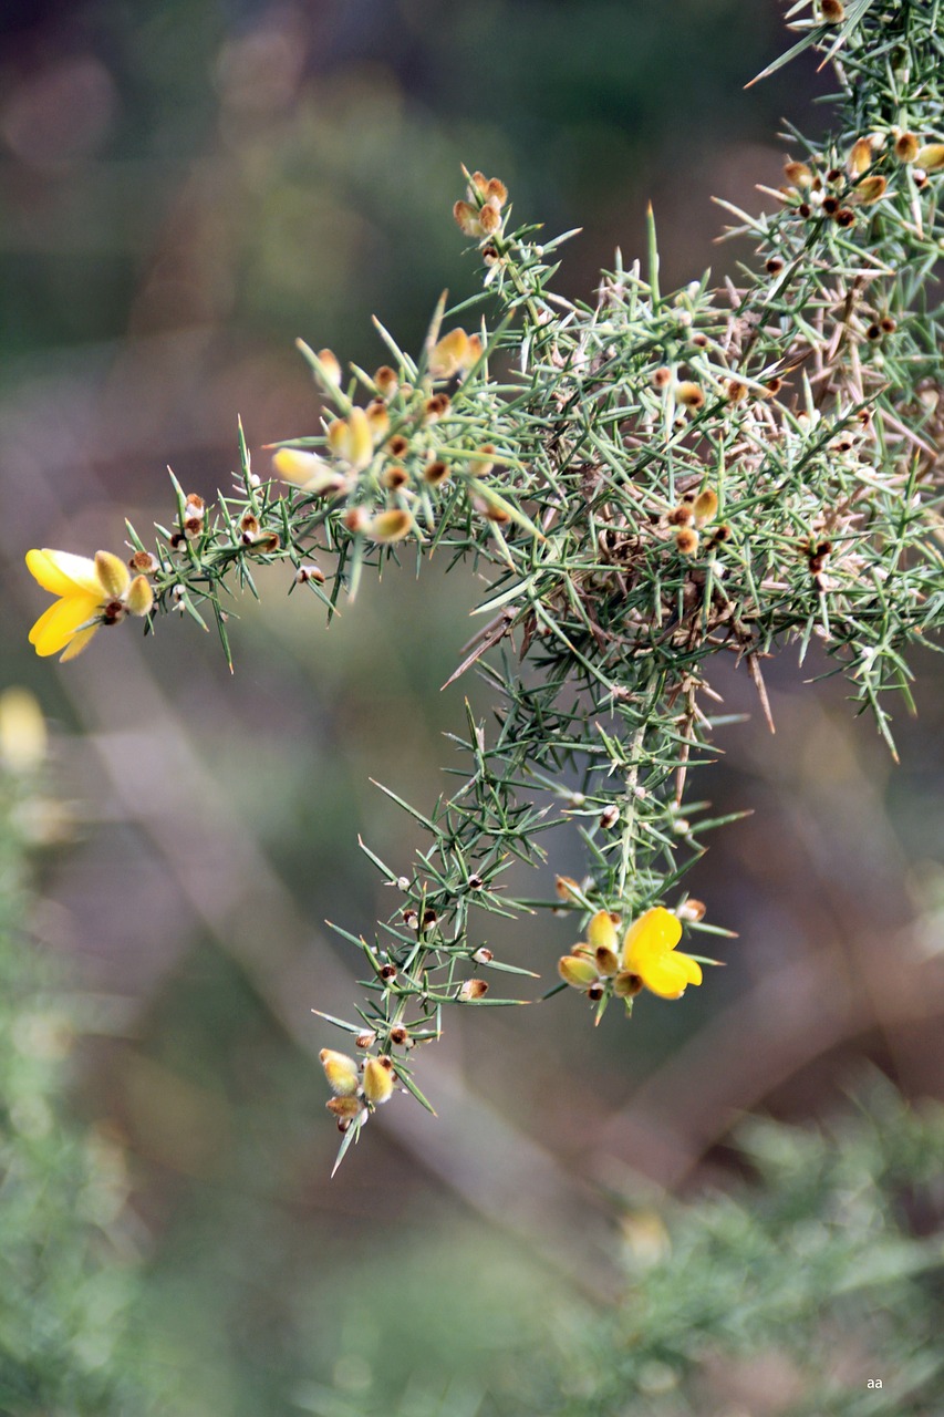
{"label": "yellow flower at the far left tip of the branch", "polygon": [[64,650],[64,660],[74,659],[101,625],[123,619],[129,608],[139,615],[150,609],[152,599],[139,594],[133,605],[126,604],[132,584],[147,582],[143,577],[132,582],[125,563],[111,551],[98,551],[94,561],[69,551],[27,551],[26,560],[43,589],[58,597],[30,631],[37,655]]}

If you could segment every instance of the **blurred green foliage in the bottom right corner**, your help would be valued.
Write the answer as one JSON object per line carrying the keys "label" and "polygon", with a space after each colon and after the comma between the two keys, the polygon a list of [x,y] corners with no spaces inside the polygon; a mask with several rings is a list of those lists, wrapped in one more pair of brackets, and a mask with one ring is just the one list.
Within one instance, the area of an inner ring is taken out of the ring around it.
{"label": "blurred green foliage in the bottom right corner", "polygon": [[570,1345],[564,1410],[927,1417],[944,1391],[941,1107],[876,1081],[832,1125],[754,1119],[736,1141],[750,1186],[692,1199],[665,1233],[626,1212],[628,1297]]}

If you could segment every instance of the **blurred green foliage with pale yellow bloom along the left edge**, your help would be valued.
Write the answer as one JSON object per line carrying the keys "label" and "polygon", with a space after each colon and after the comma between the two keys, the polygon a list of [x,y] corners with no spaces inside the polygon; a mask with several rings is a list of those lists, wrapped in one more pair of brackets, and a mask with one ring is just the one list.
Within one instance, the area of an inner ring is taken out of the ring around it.
{"label": "blurred green foliage with pale yellow bloom along the left edge", "polygon": [[125,1348],[135,1241],[123,1152],[67,1115],[68,1000],[26,930],[24,853],[58,835],[43,720],[0,696],[0,1408],[143,1411]]}

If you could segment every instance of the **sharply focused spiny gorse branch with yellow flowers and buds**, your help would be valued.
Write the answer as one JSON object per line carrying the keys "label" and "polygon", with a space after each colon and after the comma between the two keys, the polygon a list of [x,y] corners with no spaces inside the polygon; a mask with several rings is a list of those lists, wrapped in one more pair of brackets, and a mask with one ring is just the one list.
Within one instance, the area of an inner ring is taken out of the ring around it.
{"label": "sharply focused spiny gorse branch with yellow flowers and buds", "polygon": [[[405,873],[369,852],[397,908],[370,938],[340,931],[369,976],[354,1017],[332,1020],[360,1061],[323,1053],[342,1155],[397,1081],[425,1101],[411,1050],[444,1006],[517,1002],[495,998],[496,973],[524,971],[483,942],[489,913],[570,913],[583,939],[551,992],[583,992],[597,1019],[614,998],[631,1012],[642,989],[702,982],[712,961],[675,947],[683,925],[724,934],[682,886],[721,820],[686,794],[720,721],[714,656],[744,663],[770,718],[764,659],[795,642],[802,662],[815,639],[894,752],[889,693],[911,706],[907,652],[944,623],[940,7],[809,9],[791,11],[802,35],[778,62],[826,52],[835,129],[791,130],[775,210],[721,203],[754,249],[737,282],[663,293],[651,220],[644,262],[617,255],[595,299],[564,299],[566,237],[513,227],[503,183],[473,173],[454,214],[483,290],[444,298],[415,357],[377,324],[388,363],[373,373],[299,341],[329,412],[278,448],[275,478],[251,470],[241,434],[232,493],[208,507],[174,482],[154,550],[129,527],[130,571],[30,553],[58,597],[31,638],[64,657],[99,625],[137,614],[153,629],[174,609],[208,614],[230,657],[228,598],[255,592],[258,564],[288,564],[329,619],[364,571],[405,555],[486,581],[449,683],[482,674],[495,721],[468,711],[468,767],[431,812],[394,798],[428,845]],[[543,862],[558,826],[580,833],[585,877],[515,898],[505,873]]]}

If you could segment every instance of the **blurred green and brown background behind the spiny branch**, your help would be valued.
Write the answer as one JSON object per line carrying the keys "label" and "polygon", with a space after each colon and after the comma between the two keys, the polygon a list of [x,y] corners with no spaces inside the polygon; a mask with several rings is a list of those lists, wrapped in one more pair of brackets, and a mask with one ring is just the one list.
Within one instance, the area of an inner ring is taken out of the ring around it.
{"label": "blurred green and brown background behind the spiny branch", "polygon": [[[754,816],[692,880],[738,932],[696,998],[595,1032],[571,996],[449,1017],[420,1078],[439,1118],[397,1101],[329,1182],[336,1036],[310,1009],[357,986],[325,921],[390,908],[357,833],[408,862],[369,778],[431,803],[463,694],[488,711],[479,684],[438,690],[476,587],[390,575],[329,632],[271,574],[232,677],[191,622],[60,670],[26,642],[23,554],[120,550],[125,516],[170,516],[166,463],[213,497],[237,414],[257,451],[310,432],[296,336],[374,367],[376,313],[415,347],[439,290],[475,288],[462,162],[516,217],[584,228],[564,293],[641,252],[648,198],[666,288],[736,272],[710,197],[764,201],[781,115],[818,130],[828,79],[809,61],[744,92],[785,45],[772,0],[9,0],[0,45],[0,687],[55,730],[31,930],[86,1030],[74,1108],[128,1166],[146,1362],[184,1417],[541,1411],[516,1383],[622,1287],[621,1204],[726,1186],[733,1118],[821,1117],[866,1060],[944,1097],[931,657],[899,768],[790,655],[777,737],[723,733],[702,789]],[[754,711],[730,667],[716,687]],[[502,937],[546,975],[570,942]]]}

